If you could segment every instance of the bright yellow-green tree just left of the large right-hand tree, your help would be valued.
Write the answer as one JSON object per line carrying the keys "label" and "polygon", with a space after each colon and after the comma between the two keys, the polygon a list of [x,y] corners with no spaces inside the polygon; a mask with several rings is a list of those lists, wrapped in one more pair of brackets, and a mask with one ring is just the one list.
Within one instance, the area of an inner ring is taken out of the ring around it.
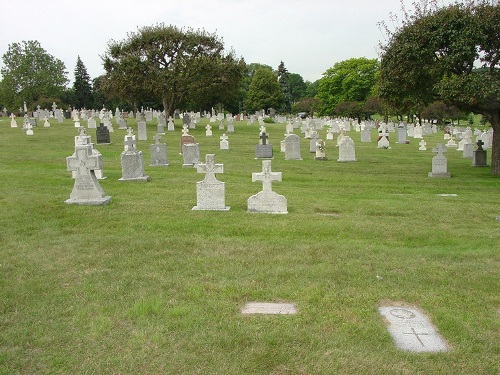
{"label": "bright yellow-green tree just left of the large right-hand tree", "polygon": [[365,57],[344,60],[329,68],[319,81],[317,96],[323,101],[321,114],[333,114],[341,102],[358,102],[361,108],[374,92],[378,69],[376,59]]}

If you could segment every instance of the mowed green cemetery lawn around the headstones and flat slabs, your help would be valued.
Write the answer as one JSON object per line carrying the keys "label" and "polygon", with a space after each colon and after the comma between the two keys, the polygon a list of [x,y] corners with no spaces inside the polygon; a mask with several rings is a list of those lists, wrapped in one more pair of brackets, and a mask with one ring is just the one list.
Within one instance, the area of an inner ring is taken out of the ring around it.
{"label": "mowed green cemetery lawn around the headstones and flat slabs", "polygon": [[[168,167],[149,167],[152,141],[138,141],[149,183],[118,181],[115,126],[113,143],[96,145],[112,202],[95,207],[64,203],[72,122],[28,137],[0,119],[0,374],[499,372],[500,178],[489,168],[452,149],[453,177],[427,177],[442,132],[418,151],[411,138],[391,134],[383,150],[375,131],[371,143],[352,131],[355,163],[336,161],[334,141],[315,161],[303,139],[304,160],[286,161],[285,125],[267,124],[289,214],[250,214],[258,125],[236,122],[219,150],[222,131],[213,124],[207,138],[206,123],[191,134],[203,160],[224,164],[229,212],[191,210],[203,175],[181,168],[180,122],[162,139]],[[148,123],[150,140],[155,130]],[[241,315],[252,301],[292,302],[298,314]],[[396,349],[385,303],[424,310],[449,352]]]}

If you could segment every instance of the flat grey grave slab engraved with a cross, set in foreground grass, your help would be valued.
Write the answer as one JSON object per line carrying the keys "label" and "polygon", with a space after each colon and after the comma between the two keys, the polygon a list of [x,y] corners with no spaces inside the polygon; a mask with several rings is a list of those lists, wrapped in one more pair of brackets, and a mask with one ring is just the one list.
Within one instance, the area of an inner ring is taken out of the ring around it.
{"label": "flat grey grave slab engraved with a cross, set in foreground grass", "polygon": [[415,308],[381,306],[379,313],[387,324],[396,347],[410,352],[445,352],[448,347],[429,319]]}

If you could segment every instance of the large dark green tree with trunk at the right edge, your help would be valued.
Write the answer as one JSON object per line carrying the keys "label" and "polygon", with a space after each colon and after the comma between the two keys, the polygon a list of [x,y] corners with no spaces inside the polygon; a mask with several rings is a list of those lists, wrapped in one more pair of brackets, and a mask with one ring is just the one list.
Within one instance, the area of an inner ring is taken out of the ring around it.
{"label": "large dark green tree with trunk at the right edge", "polygon": [[491,173],[500,175],[500,6],[422,1],[382,46],[379,93],[393,105],[442,100],[493,127]]}

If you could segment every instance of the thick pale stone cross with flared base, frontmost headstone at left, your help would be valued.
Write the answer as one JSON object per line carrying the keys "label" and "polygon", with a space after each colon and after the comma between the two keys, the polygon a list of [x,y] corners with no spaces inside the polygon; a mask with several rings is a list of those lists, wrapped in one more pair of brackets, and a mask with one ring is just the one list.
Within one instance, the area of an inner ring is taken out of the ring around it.
{"label": "thick pale stone cross with flared base, frontmost headstone at left", "polygon": [[75,183],[68,204],[101,205],[108,204],[110,196],[106,196],[94,174],[95,169],[102,168],[101,155],[92,154],[92,145],[75,146],[73,156],[66,158],[68,171],[75,171]]}

